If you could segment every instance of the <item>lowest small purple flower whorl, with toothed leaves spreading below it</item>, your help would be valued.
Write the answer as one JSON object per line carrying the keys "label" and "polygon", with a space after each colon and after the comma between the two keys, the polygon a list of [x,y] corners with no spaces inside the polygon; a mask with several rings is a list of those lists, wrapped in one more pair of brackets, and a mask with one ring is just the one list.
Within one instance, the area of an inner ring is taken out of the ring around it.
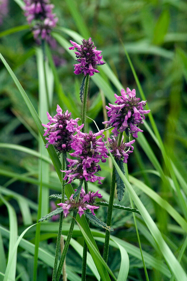
{"label": "lowest small purple flower whorl, with toothed leaves spreading below it", "polygon": [[[76,191],[76,189],[75,189]],[[99,190],[98,190],[99,191]],[[59,203],[60,207],[64,210],[63,213],[65,217],[67,214],[69,214],[70,211],[77,210],[79,216],[81,217],[84,214],[84,211],[86,209],[91,210],[92,214],[94,214],[94,209],[98,209],[99,207],[93,206],[95,202],[95,198],[102,198],[102,195],[97,192],[91,193],[91,191],[88,194],[85,194],[85,191],[82,187],[79,201],[77,202],[76,198],[73,199],[73,194],[69,198],[69,200],[66,200],[65,203]],[[92,205],[90,205],[92,204]]]}

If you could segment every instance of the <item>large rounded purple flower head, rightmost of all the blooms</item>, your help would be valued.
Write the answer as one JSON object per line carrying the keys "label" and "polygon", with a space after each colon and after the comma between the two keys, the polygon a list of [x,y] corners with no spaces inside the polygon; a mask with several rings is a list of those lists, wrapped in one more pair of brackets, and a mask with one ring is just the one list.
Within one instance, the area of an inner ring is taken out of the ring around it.
{"label": "large rounded purple flower head, rightmost of all the blooms", "polygon": [[124,89],[121,90],[122,96],[117,96],[114,94],[117,105],[112,105],[109,103],[109,106],[106,106],[108,109],[109,121],[103,122],[109,126],[114,127],[112,130],[115,137],[120,132],[126,132],[127,136],[133,134],[133,137],[137,138],[138,132],[143,132],[138,128],[139,124],[143,123],[145,120],[144,114],[150,112],[150,110],[143,110],[143,107],[146,105],[147,101],[140,101],[140,98],[136,98],[135,89],[131,90],[127,88],[127,93]]}

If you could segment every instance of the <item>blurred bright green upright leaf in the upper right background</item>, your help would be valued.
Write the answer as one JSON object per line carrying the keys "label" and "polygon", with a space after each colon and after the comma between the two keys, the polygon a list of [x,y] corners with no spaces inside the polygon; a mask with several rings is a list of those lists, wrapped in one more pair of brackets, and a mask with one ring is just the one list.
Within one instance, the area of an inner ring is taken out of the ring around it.
{"label": "blurred bright green upright leaf in the upper right background", "polygon": [[154,28],[154,35],[153,35],[153,40],[152,43],[159,45],[164,42],[164,37],[167,33],[168,26],[169,26],[169,21],[170,21],[170,15],[168,10],[164,10]]}

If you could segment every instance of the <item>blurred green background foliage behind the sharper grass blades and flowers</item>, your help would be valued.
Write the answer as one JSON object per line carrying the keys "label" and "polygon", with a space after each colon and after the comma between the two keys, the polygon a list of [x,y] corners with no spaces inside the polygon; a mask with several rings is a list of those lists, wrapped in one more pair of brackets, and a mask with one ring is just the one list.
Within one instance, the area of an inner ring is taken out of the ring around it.
{"label": "blurred green background foliage behind the sharper grass blades and flowers", "polygon": [[[184,189],[185,182],[183,178],[187,177],[186,2],[178,0],[54,0],[53,4],[55,5],[54,10],[59,18],[58,26],[77,31],[83,37],[91,36],[97,49],[102,50],[104,61],[111,67],[124,89],[126,87],[129,87],[131,90],[135,88],[137,92],[136,96],[140,97],[121,41],[124,43],[142,85],[159,133],[161,134],[167,156],[172,159],[177,167],[178,171],[175,170],[175,175],[179,181],[179,185]],[[0,52],[20,81],[31,103],[39,113],[40,119],[45,123],[46,110],[42,112],[42,106],[45,107],[45,104],[42,104],[41,100],[39,102],[38,94],[38,87],[41,86],[41,79],[38,82],[39,74],[41,74],[40,59],[38,59],[40,50],[38,51],[38,46],[35,44],[28,27],[25,27],[24,30],[20,28],[20,31],[10,35],[3,33],[15,26],[26,24],[26,18],[19,5],[14,1],[10,1],[9,13],[3,19],[3,24],[0,26]],[[55,32],[60,33],[68,41],[70,39],[72,40],[67,34],[59,31],[58,27]],[[61,91],[63,94],[60,96],[53,84],[53,74],[48,64],[49,57],[47,59],[47,52],[45,50],[47,77],[49,78],[47,83],[50,113],[55,114],[56,104],[58,103],[63,110],[66,110],[68,105],[71,106],[70,111],[72,111],[73,118],[80,117],[82,103],[79,99],[79,87],[82,77],[78,77],[73,73],[74,61],[60,44],[57,45],[56,49],[52,49],[51,52],[53,56],[63,59],[63,64],[57,67],[57,74],[62,85]],[[120,94],[119,89],[109,81],[102,68],[99,70],[106,84],[114,92]],[[63,95],[65,95],[66,99]],[[107,95],[105,94],[104,97],[103,92],[91,80],[87,116],[94,119],[100,129],[104,128],[102,121],[104,120],[103,104],[105,103],[108,103]],[[149,121],[147,122],[149,124]],[[40,181],[43,182],[44,195],[47,193],[60,193],[61,185],[53,166],[49,164],[50,160],[45,147],[43,144],[40,145],[38,130],[26,103],[1,62],[0,123],[0,194],[13,206],[17,214],[18,234],[20,235],[26,226],[35,223],[37,220],[37,198]],[[97,132],[94,123],[89,119],[88,123],[87,129]],[[163,173],[165,173],[166,177],[169,176],[156,142],[154,142],[145,126],[141,128],[144,130],[146,140],[154,151],[158,164],[163,169]],[[32,150],[24,150],[16,145],[21,145]],[[170,188],[169,185],[166,185],[161,180],[159,171],[153,164],[154,160],[151,162],[150,155],[146,152],[148,151],[146,150],[147,147],[146,149],[144,148],[141,145],[141,141],[135,142],[134,153],[128,159],[129,173],[156,191],[161,198],[168,201],[183,216],[183,208],[176,196],[176,190]],[[39,151],[38,154],[37,151]],[[38,157],[40,157],[41,151],[44,151],[44,153],[42,152],[42,156],[45,160],[42,161],[42,179],[40,177],[40,169],[38,168],[40,167],[40,158]],[[88,187],[94,191],[100,188],[104,201],[108,201],[111,175],[110,161],[107,160],[106,164],[102,163],[101,168],[102,176],[106,176],[106,180],[102,186],[98,187],[98,185],[90,184]],[[153,169],[155,170],[153,171]],[[169,181],[171,183],[170,179]],[[160,207],[159,200],[156,203],[156,200],[148,194],[149,192],[144,193],[143,188],[138,188],[137,183],[135,184],[133,182],[133,184],[134,190],[158,225],[163,238],[170,246],[174,255],[178,257],[186,237],[184,228],[178,224],[179,222],[176,222],[174,217],[169,215],[168,209],[163,210]],[[77,185],[78,182],[75,182],[73,188],[76,188]],[[182,196],[184,202],[186,202],[185,190]],[[46,200],[45,196],[44,198]],[[59,203],[59,201],[57,200],[56,203]],[[114,203],[118,203],[117,197]],[[9,228],[10,214],[8,215],[4,202],[0,201],[0,204],[0,233],[3,237],[1,241],[0,236],[0,249],[3,249],[1,248],[1,242],[3,242],[5,251],[4,256],[2,254],[4,263],[2,268],[0,267],[0,271],[4,273],[8,248],[10,247],[9,234],[6,230]],[[120,204],[131,207],[126,189]],[[43,202],[43,205],[45,205],[45,210],[51,211],[47,200]],[[100,206],[99,210],[97,210],[97,217],[104,222],[106,222],[106,208]],[[65,235],[67,235],[70,220],[71,218],[69,217],[65,220],[63,226],[63,234]],[[170,271],[158,250],[157,244],[146,228],[142,217],[139,215],[137,215],[137,226],[149,280],[169,280],[171,277]],[[95,225],[91,227],[93,228],[93,236],[97,237],[97,245],[102,254],[104,232]],[[132,213],[125,210],[113,209],[112,227],[114,228],[113,237],[118,243],[126,247],[129,254],[130,268],[128,280],[145,280]],[[39,251],[38,255],[38,280],[47,280],[47,278],[50,279],[52,276],[57,232],[57,222],[48,221],[41,225],[40,248],[42,250]],[[18,247],[17,280],[32,280],[34,238],[35,227],[28,230],[24,236],[24,239],[27,241],[22,241]],[[79,280],[78,275],[81,274],[82,260],[79,255],[80,251],[77,251],[77,244],[81,248],[83,237],[77,227],[75,227],[73,238],[76,241],[74,242],[72,240],[72,244],[68,250],[66,259],[67,272],[70,276],[69,280]],[[133,246],[130,244],[133,244]],[[114,241],[111,241],[111,246],[108,265],[117,276],[121,261],[120,251]],[[184,252],[181,261],[184,270],[187,268],[186,255],[187,253]],[[88,268],[87,274],[87,280],[97,280],[90,268]]]}

